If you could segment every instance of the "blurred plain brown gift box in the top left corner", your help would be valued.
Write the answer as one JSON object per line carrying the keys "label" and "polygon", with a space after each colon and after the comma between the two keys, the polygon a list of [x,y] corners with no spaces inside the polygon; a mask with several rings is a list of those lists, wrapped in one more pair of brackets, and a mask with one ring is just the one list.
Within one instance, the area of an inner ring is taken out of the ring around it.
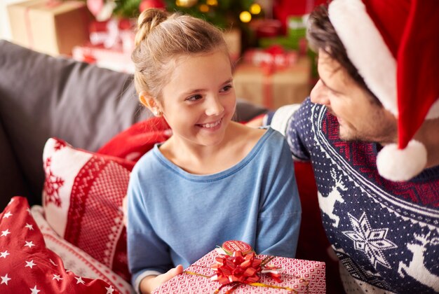
{"label": "blurred plain brown gift box in the top left corner", "polygon": [[31,0],[8,6],[14,43],[50,55],[70,55],[88,41],[84,1]]}

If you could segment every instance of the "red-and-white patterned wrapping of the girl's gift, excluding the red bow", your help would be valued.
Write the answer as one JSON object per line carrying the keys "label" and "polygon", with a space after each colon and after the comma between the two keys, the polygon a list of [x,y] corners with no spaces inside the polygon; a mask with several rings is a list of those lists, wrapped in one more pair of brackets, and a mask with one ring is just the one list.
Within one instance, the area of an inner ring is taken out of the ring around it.
{"label": "red-and-white patterned wrapping of the girl's gift, excluding the red bow", "polygon": [[[210,267],[219,255],[216,250],[210,251],[203,258],[175,276],[154,293],[215,293],[222,284],[211,281],[210,276],[215,272]],[[267,255],[256,255],[259,259]],[[325,293],[325,262],[299,260],[294,258],[273,258],[268,265],[282,267],[281,279],[278,282],[269,274],[260,274],[257,285],[246,283],[232,283],[219,289],[219,293],[227,293],[234,288],[233,293]]]}

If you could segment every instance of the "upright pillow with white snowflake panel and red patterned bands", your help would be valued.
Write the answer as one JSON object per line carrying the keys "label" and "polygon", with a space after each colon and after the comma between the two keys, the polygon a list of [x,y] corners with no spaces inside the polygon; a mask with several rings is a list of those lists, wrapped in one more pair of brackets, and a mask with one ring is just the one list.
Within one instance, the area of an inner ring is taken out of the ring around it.
{"label": "upright pillow with white snowflake panel and red patterned bands", "polygon": [[122,201],[135,162],[50,138],[43,151],[43,208],[53,230],[130,280]]}

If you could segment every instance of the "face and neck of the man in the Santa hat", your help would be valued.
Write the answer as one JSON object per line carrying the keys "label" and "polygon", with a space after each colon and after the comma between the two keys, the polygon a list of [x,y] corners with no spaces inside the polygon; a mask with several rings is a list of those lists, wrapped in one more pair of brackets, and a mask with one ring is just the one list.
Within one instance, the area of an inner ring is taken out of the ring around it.
{"label": "face and neck of the man in the Santa hat", "polygon": [[323,50],[318,52],[320,80],[311,101],[322,104],[339,122],[340,138],[381,144],[396,142],[397,120]]}

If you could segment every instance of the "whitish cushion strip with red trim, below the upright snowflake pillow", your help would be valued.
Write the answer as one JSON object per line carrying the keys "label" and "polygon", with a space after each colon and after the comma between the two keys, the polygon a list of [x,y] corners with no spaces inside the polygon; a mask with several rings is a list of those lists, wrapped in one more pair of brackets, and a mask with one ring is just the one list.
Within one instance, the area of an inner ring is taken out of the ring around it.
{"label": "whitish cushion strip with red trim, below the upright snowflake pillow", "polygon": [[46,218],[44,218],[43,207],[34,205],[30,211],[41,234],[43,234],[46,247],[60,256],[66,269],[80,276],[86,276],[89,279],[102,279],[112,284],[113,288],[120,293],[129,294],[133,292],[133,287],[131,287],[130,283],[80,248],[62,239],[50,228]]}

